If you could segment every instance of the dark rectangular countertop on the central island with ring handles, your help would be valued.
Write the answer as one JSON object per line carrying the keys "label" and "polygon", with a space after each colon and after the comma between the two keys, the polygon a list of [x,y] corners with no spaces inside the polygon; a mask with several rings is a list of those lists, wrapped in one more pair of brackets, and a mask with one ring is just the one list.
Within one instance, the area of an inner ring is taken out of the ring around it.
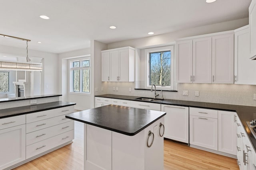
{"label": "dark rectangular countertop on the central island with ring handles", "polygon": [[134,136],[164,115],[166,112],[107,105],[71,113],[66,117],[124,135]]}

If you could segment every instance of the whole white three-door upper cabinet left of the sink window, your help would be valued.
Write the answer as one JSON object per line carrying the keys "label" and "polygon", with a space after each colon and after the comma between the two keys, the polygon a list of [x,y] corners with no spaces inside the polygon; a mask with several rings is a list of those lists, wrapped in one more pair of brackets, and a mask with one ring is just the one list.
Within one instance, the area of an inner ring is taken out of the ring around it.
{"label": "whole white three-door upper cabinet left of the sink window", "polygon": [[102,51],[103,82],[134,82],[135,49],[123,47]]}

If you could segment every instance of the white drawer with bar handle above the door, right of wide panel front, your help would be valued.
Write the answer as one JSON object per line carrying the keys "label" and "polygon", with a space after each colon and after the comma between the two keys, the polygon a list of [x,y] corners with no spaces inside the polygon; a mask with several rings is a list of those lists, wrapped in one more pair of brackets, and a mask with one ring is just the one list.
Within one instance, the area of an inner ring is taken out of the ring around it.
{"label": "white drawer with bar handle above the door, right of wide panel front", "polygon": [[218,110],[189,107],[189,115],[218,119]]}

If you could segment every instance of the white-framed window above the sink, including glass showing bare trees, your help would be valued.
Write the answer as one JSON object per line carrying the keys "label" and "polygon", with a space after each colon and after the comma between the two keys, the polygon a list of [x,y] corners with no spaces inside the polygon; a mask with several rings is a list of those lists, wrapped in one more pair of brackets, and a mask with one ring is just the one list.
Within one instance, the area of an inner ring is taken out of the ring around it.
{"label": "white-framed window above the sink, including glass showing bare trees", "polygon": [[157,47],[145,50],[146,74],[145,86],[151,88],[152,84],[157,89],[174,89],[174,50],[173,46]]}

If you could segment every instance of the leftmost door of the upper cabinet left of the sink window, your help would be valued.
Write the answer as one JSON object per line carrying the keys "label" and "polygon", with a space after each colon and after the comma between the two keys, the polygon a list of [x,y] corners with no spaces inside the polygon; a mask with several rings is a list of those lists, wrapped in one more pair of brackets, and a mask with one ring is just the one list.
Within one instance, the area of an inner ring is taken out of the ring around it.
{"label": "leftmost door of the upper cabinet left of the sink window", "polygon": [[110,59],[109,59],[109,52],[102,52],[101,53],[101,63],[102,63],[102,70],[101,70],[101,80],[102,82],[107,82],[110,80]]}

